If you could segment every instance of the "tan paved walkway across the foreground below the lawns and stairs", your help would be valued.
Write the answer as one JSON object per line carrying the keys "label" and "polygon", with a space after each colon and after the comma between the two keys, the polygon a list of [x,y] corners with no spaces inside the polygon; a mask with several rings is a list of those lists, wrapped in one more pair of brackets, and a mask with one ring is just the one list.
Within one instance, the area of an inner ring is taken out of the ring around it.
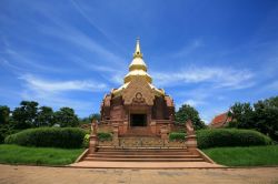
{"label": "tan paved walkway across the foreground below the lawns and stairs", "polygon": [[9,184],[246,184],[278,183],[278,167],[123,170],[0,165],[0,183]]}

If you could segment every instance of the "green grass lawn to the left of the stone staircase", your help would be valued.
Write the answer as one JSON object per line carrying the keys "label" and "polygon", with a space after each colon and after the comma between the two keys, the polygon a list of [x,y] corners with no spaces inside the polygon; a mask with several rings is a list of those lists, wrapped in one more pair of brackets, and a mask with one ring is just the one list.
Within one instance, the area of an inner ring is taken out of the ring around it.
{"label": "green grass lawn to the left of the stone staircase", "polygon": [[73,163],[83,149],[26,147],[0,144],[0,163],[30,165],[67,165]]}

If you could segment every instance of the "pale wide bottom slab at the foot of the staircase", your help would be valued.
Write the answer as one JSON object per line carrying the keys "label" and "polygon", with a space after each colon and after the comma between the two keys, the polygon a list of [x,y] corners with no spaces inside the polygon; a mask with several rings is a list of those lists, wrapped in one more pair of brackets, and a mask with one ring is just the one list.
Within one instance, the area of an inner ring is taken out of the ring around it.
{"label": "pale wide bottom slab at the foot of the staircase", "polygon": [[87,168],[216,168],[225,167],[208,162],[96,162],[82,161],[73,163],[73,167]]}

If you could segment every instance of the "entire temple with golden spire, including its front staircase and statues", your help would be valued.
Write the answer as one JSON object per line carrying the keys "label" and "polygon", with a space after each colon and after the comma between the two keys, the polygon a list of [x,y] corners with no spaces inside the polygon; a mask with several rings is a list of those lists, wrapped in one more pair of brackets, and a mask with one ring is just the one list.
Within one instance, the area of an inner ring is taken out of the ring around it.
{"label": "entire temple with golden spire, including its front staircase and statues", "polygon": [[[214,163],[197,149],[192,122],[188,120],[185,125],[178,125],[173,116],[173,101],[152,84],[137,40],[123,84],[105,95],[101,121],[92,120],[89,149],[77,162],[95,167],[103,167],[103,162],[112,167],[149,166],[142,162],[157,162],[163,167],[169,164],[162,162],[175,163],[173,167],[181,162]],[[98,131],[109,136],[100,139]],[[185,139],[169,139],[169,134],[177,131],[185,131]]]}

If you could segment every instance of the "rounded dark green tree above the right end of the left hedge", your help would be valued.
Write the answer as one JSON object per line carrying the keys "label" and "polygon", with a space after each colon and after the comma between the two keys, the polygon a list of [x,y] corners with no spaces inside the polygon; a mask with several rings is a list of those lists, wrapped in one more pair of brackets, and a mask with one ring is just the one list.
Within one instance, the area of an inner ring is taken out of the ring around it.
{"label": "rounded dark green tree above the right end of the left hedge", "polygon": [[61,108],[54,112],[54,123],[61,127],[78,126],[78,116],[75,114],[75,110],[71,108]]}

